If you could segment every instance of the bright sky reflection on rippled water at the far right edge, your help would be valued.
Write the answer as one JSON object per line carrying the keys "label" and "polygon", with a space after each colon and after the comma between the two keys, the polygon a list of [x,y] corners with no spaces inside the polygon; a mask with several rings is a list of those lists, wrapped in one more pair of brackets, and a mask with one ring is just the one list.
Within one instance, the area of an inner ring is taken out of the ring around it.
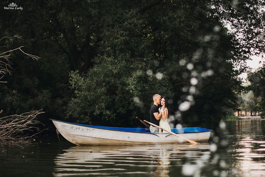
{"label": "bright sky reflection on rippled water at the far right edge", "polygon": [[231,130],[234,136],[227,136],[233,147],[229,148],[228,154],[236,158],[230,171],[236,171],[234,176],[264,176],[264,120],[238,120],[235,124],[236,133]]}

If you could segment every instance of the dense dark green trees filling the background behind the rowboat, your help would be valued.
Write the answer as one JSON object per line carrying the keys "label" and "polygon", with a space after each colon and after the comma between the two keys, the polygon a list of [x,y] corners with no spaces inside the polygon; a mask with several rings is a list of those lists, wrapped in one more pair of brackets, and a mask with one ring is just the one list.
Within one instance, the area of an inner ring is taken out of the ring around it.
{"label": "dense dark green trees filling the background behind the rowboat", "polygon": [[[148,119],[152,96],[160,94],[172,98],[180,122],[218,121],[238,104],[246,67],[235,65],[264,53],[259,0],[20,5],[22,12],[1,11],[8,20],[0,30],[22,35],[41,59],[16,55],[14,76],[0,88],[0,106],[10,113],[43,107],[49,118],[131,126],[135,116]],[[179,112],[183,102],[188,109]]]}

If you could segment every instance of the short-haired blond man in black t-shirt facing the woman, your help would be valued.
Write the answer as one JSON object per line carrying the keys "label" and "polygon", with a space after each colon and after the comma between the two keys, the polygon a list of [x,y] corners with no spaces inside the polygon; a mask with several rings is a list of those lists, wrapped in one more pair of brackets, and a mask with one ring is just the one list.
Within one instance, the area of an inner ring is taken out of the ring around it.
{"label": "short-haired blond man in black t-shirt facing the woman", "polygon": [[[162,116],[162,113],[158,111],[158,104],[160,104],[161,96],[155,94],[153,96],[154,104],[150,108],[150,122],[159,126],[159,119]],[[159,133],[159,128],[153,127],[150,125],[150,132],[151,133]]]}

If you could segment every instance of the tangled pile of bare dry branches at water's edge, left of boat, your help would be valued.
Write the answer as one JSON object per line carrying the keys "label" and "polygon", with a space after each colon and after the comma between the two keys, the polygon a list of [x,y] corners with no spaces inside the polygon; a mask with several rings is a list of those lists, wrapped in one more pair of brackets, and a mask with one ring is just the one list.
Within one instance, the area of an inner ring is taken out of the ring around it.
{"label": "tangled pile of bare dry branches at water's edge, left of boat", "polygon": [[43,131],[36,127],[37,124],[42,124],[36,118],[37,115],[42,113],[44,112],[40,109],[0,118],[0,146],[28,143],[34,140],[34,137]]}

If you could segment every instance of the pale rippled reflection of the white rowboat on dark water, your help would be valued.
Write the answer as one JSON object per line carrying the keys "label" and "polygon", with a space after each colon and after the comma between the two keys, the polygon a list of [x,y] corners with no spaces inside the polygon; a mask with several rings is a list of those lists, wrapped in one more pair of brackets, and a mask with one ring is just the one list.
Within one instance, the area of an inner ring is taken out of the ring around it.
{"label": "pale rippled reflection of the white rowboat on dark water", "polygon": [[74,146],[55,159],[54,176],[171,176],[198,173],[210,158],[210,145],[159,144]]}

